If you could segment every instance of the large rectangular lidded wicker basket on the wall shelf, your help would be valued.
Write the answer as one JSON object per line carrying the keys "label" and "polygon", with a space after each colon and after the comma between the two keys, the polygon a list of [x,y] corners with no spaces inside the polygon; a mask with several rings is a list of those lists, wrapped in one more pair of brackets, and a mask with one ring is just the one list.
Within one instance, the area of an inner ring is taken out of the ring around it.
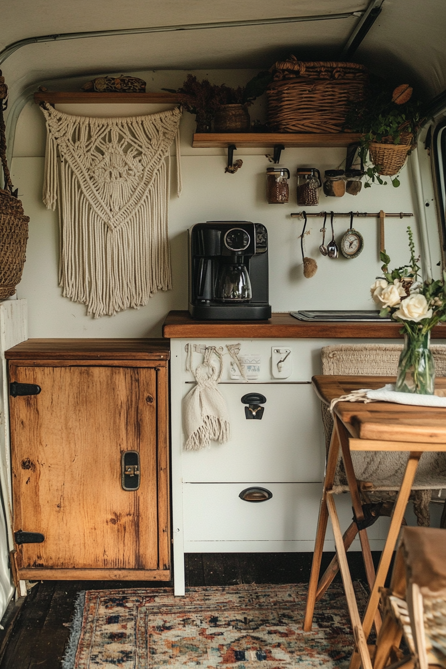
{"label": "large rectangular lidded wicker basket on the wall shelf", "polygon": [[294,56],[271,68],[268,122],[276,132],[341,132],[350,100],[368,84],[356,63],[302,62]]}

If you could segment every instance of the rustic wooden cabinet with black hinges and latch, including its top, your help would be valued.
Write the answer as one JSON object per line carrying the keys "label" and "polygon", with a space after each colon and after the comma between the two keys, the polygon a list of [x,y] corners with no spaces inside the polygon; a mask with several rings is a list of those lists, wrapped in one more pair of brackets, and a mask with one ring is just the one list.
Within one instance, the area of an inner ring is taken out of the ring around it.
{"label": "rustic wooden cabinet with black hinges and latch, including its top", "polygon": [[18,577],[169,580],[169,343],[28,340],[6,357],[10,383],[41,388],[9,401]]}

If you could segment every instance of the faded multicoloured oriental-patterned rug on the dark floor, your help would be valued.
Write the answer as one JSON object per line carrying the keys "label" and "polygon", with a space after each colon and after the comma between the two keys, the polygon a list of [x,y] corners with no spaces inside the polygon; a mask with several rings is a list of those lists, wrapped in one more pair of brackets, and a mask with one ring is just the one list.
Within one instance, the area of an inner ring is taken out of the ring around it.
{"label": "faded multicoloured oriental-patterned rug on the dark floor", "polygon": [[[355,584],[360,609],[366,593]],[[80,593],[63,669],[346,669],[352,631],[342,586],[302,630],[306,584]]]}

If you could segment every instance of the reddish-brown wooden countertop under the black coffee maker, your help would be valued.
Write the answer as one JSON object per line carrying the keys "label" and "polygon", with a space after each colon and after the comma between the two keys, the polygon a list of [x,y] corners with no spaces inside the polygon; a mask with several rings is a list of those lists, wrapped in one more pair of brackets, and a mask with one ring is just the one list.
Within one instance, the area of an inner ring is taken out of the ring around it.
{"label": "reddish-brown wooden countertop under the black coffee maker", "polygon": [[[390,322],[308,323],[288,312],[272,314],[269,320],[196,320],[189,311],[171,311],[162,326],[170,339],[215,337],[219,339],[402,339],[401,325]],[[433,329],[433,339],[446,339],[446,326]]]}

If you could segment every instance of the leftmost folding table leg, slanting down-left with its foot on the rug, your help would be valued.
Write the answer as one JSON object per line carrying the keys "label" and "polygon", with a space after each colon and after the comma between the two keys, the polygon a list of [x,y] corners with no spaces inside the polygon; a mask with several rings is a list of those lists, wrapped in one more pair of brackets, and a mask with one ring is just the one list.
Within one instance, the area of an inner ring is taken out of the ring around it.
{"label": "leftmost folding table leg, slanting down-left with its foot on the rug", "polygon": [[328,520],[328,508],[326,501],[327,490],[331,490],[333,486],[334,473],[336,472],[336,464],[338,463],[339,446],[340,444],[338,434],[336,429],[334,429],[332,432],[332,438],[330,440],[330,448],[328,449],[324,488],[319,509],[318,529],[316,531],[316,542],[314,544],[312,571],[310,574],[310,583],[308,584],[307,604],[304,618],[305,632],[310,632],[312,628],[314,604],[316,603],[316,591],[318,589],[320,563],[322,560],[322,551],[324,549],[324,539]]}

